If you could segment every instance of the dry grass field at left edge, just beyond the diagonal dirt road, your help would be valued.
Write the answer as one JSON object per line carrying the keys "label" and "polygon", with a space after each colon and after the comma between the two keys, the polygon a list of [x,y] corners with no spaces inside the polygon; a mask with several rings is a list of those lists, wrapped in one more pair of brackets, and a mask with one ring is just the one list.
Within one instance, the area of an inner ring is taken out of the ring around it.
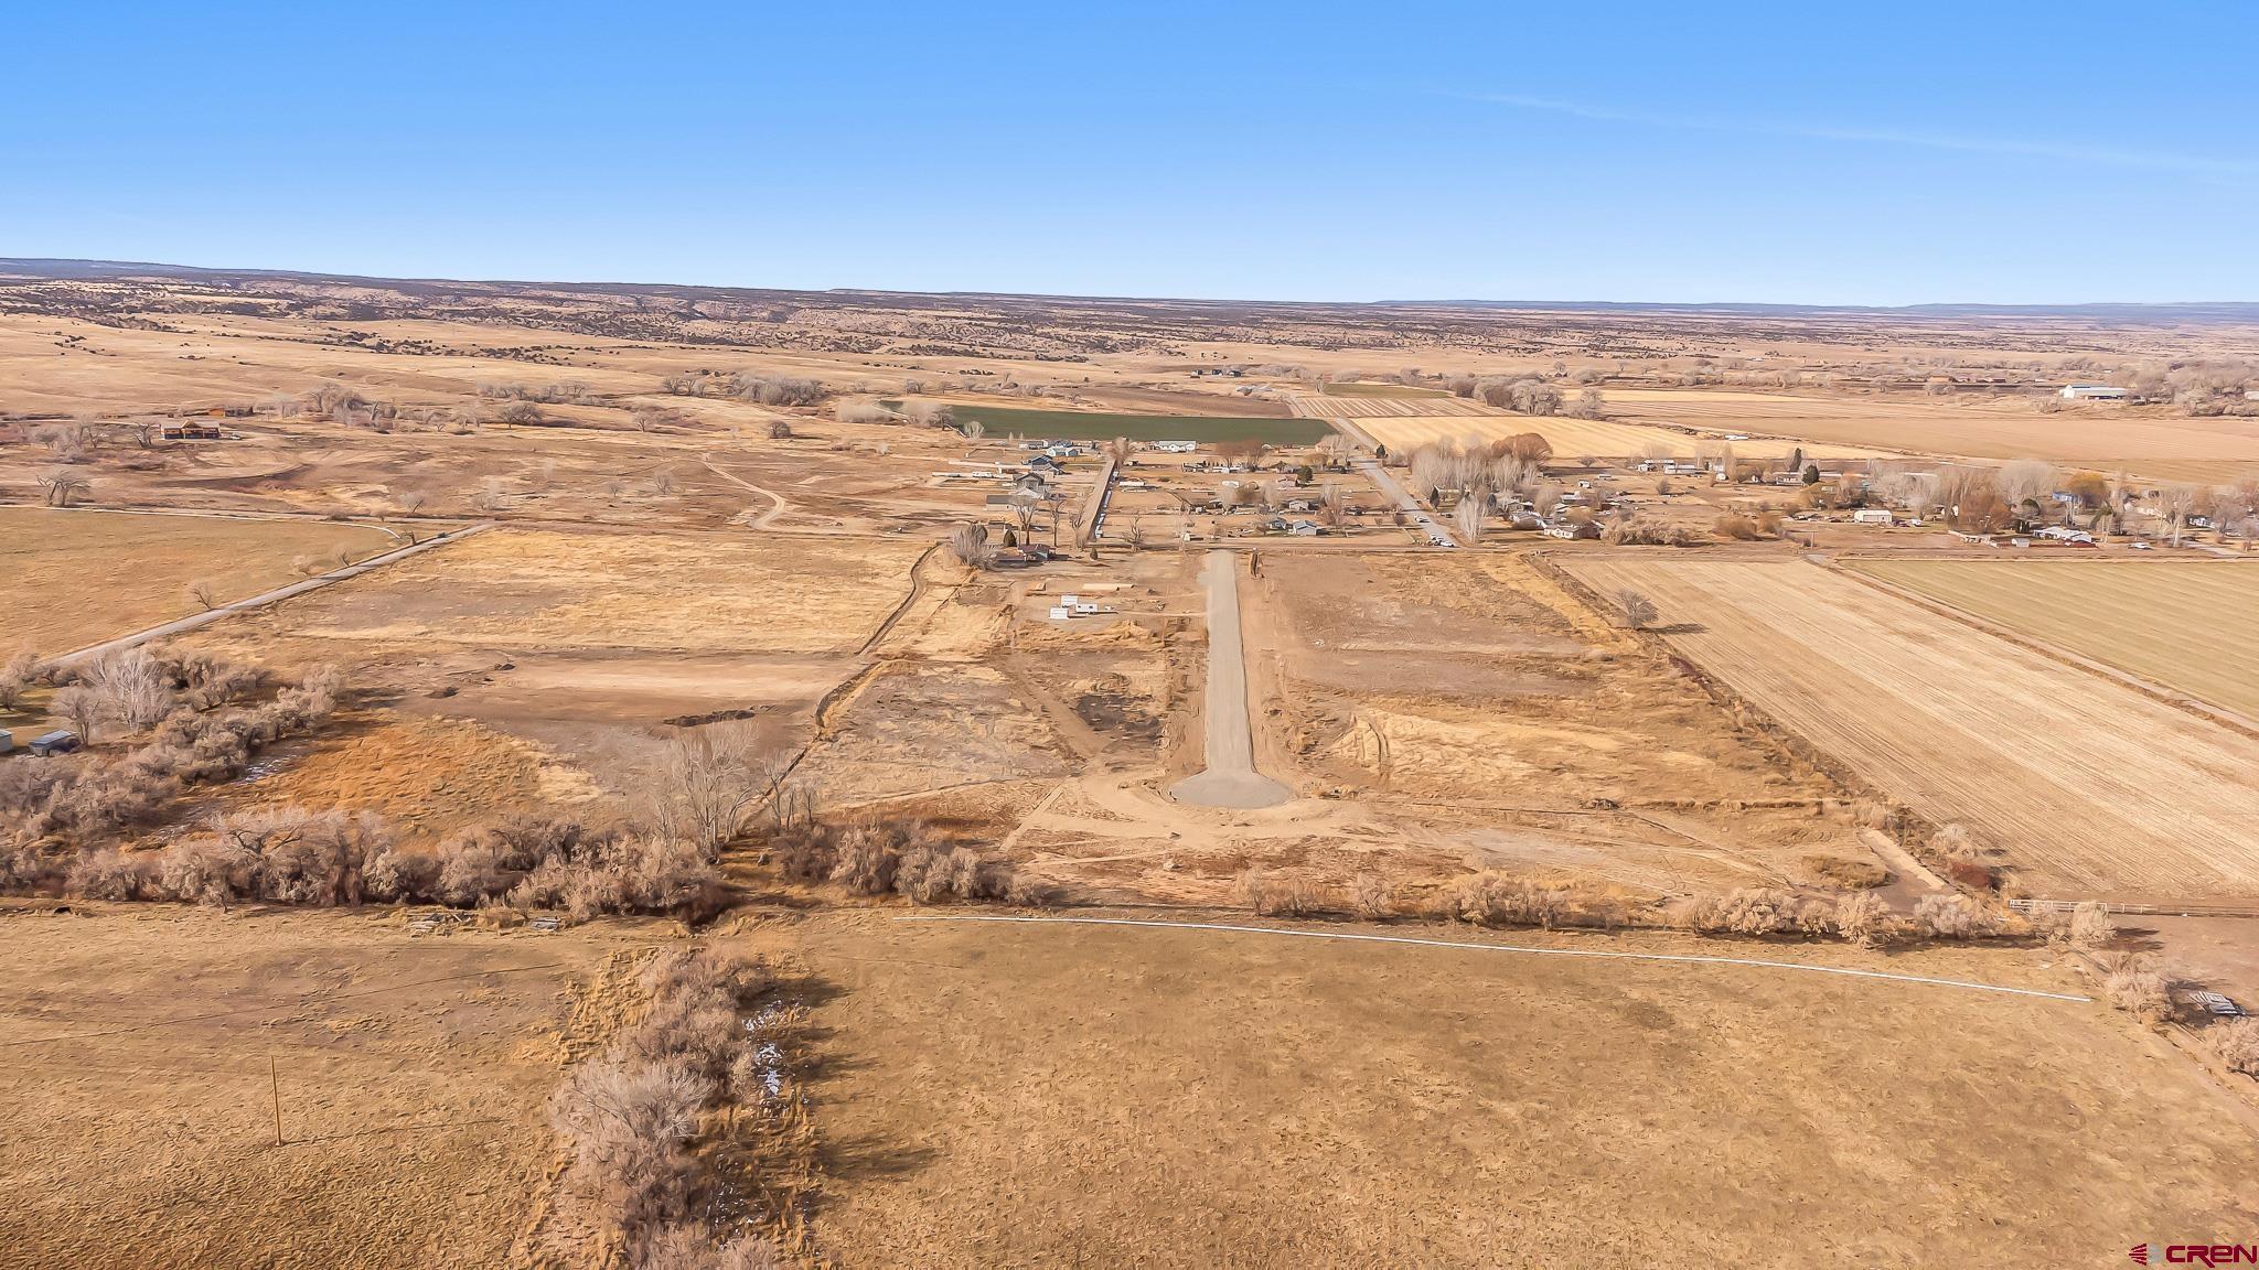
{"label": "dry grass field at left edge, just beyond the diagonal dirt road", "polygon": [[68,653],[199,612],[192,581],[228,603],[298,581],[300,556],[334,569],[393,545],[368,524],[0,506],[0,646]]}

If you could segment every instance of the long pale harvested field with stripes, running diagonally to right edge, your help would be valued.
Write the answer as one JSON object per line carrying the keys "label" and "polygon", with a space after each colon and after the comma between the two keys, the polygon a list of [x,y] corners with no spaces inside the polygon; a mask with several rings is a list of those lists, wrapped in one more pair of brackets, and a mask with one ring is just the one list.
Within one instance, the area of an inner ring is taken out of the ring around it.
{"label": "long pale harvested field with stripes, running diagonally to right edge", "polygon": [[2038,895],[2259,897],[2259,741],[1807,563],[1588,560],[1857,777]]}

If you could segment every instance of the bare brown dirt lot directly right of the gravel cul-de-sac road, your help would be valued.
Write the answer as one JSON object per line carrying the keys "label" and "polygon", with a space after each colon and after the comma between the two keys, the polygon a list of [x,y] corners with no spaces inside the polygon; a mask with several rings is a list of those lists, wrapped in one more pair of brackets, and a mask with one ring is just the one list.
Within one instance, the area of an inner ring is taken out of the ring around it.
{"label": "bare brown dirt lot directly right of the gravel cul-de-sac road", "polygon": [[1868,854],[1841,789],[1518,556],[1281,558],[1258,594],[1297,762],[1421,816],[1457,868],[1658,895]]}

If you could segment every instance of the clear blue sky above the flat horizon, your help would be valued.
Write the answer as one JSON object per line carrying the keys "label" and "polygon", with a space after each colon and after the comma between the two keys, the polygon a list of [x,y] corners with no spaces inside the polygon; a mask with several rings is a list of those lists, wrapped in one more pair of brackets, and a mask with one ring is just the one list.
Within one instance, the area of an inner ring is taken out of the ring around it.
{"label": "clear blue sky above the flat horizon", "polygon": [[0,255],[2259,301],[2259,5],[18,5]]}

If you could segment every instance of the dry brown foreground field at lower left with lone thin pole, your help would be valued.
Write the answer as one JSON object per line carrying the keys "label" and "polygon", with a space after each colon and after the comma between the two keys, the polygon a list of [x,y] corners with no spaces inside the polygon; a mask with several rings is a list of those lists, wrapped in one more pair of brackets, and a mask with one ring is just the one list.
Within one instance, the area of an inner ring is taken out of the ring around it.
{"label": "dry brown foreground field at lower left with lone thin pole", "polygon": [[524,1265],[544,1103],[610,1024],[576,985],[635,942],[0,915],[0,1265]]}

